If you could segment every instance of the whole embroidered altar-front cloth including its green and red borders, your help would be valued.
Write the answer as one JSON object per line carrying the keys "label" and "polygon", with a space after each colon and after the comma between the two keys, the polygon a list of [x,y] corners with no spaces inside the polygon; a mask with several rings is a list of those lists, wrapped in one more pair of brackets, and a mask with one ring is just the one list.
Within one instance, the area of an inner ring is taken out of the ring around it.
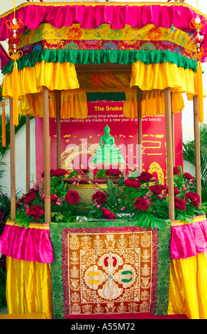
{"label": "whole embroidered altar-front cloth including its green and red borders", "polygon": [[170,225],[50,224],[54,318],[167,314]]}

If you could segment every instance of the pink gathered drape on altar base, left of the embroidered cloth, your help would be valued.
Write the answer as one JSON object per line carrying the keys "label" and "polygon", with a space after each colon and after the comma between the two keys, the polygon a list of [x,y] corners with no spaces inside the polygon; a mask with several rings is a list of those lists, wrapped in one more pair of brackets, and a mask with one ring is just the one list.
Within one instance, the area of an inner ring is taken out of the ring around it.
{"label": "pink gathered drape on altar base, left of the embroidered cloth", "polygon": [[6,225],[0,237],[0,253],[18,260],[52,263],[50,230]]}

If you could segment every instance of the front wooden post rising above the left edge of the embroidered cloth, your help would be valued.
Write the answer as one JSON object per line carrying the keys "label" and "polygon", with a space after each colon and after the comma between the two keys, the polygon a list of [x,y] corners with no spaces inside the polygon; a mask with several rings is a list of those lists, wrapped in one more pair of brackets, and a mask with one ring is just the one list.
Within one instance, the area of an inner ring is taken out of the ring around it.
{"label": "front wooden post rising above the left edge of the embroidered cloth", "polygon": [[44,173],[45,173],[45,223],[51,222],[50,200],[50,123],[49,92],[43,86],[43,138],[44,138]]}

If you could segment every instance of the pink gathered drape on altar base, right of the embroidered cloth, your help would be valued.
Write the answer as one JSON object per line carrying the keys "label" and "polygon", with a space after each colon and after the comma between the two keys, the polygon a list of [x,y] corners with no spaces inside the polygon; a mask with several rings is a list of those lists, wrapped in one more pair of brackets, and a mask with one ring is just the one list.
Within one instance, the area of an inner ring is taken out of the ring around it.
{"label": "pink gathered drape on altar base, right of the embroidered cloth", "polygon": [[186,259],[207,252],[207,220],[171,228],[172,259]]}

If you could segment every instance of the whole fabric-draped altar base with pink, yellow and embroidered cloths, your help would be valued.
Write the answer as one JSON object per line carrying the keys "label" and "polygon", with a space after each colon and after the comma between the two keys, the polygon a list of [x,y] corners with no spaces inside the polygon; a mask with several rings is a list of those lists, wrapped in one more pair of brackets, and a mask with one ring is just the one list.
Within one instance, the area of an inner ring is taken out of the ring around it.
{"label": "whole fabric-draped altar base with pink, yellow and embroidered cloths", "polygon": [[27,229],[8,221],[0,239],[8,316],[206,319],[206,239],[205,216],[160,230],[124,220]]}

